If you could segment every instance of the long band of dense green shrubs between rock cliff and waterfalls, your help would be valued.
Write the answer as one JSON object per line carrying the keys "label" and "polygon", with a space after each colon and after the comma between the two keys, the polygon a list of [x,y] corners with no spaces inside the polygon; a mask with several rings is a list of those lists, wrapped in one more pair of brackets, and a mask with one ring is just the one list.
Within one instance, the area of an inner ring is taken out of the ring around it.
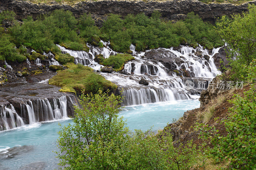
{"label": "long band of dense green shrubs between rock cliff and waterfalls", "polygon": [[[196,47],[197,43],[200,43],[209,49],[223,45],[213,26],[203,22],[194,13],[189,13],[185,21],[176,23],[161,20],[158,11],[150,18],[144,13],[127,15],[124,19],[110,14],[102,28],[95,26],[90,14],[81,15],[76,19],[70,11],[64,10],[38,16],[36,20],[28,16],[23,19],[22,24],[13,20],[14,13],[10,11],[0,13],[0,18],[14,22],[11,28],[4,32],[2,36],[5,38],[1,41],[7,43],[10,49],[14,46],[25,46],[40,54],[55,49],[55,44],[67,49],[89,51],[85,44],[88,42],[103,47],[100,39],[110,41],[109,47],[123,53],[129,51],[131,43],[136,45],[137,51],[158,47],[170,48],[180,44]],[[25,59],[19,58],[19,51],[17,54],[15,50],[11,51],[13,57],[10,61]],[[1,56],[3,60],[7,55]]]}

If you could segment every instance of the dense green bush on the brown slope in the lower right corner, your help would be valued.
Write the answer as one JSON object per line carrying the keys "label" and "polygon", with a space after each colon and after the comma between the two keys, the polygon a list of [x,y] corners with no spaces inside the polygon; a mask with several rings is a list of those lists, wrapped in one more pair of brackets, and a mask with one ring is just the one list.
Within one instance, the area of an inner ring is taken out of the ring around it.
{"label": "dense green bush on the brown slope in the lower right corner", "polygon": [[247,81],[252,83],[251,88],[244,95],[235,95],[230,102],[227,119],[219,123],[225,125],[227,136],[218,133],[215,127],[203,124],[198,125],[201,130],[200,137],[210,140],[214,146],[208,148],[206,153],[216,161],[229,160],[232,169],[256,168],[256,98],[255,78],[256,60],[253,60],[248,68]]}

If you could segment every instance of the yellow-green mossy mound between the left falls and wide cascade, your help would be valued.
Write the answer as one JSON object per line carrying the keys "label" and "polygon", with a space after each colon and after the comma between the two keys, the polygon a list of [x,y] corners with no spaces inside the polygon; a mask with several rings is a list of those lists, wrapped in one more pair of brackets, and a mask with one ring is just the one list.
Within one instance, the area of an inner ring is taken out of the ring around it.
{"label": "yellow-green mossy mound between the left falls and wide cascade", "polygon": [[98,90],[114,90],[117,85],[106,80],[92,68],[81,64],[67,63],[68,69],[59,70],[56,76],[49,80],[51,85],[62,86],[60,92],[73,92],[85,90],[86,93],[96,93]]}

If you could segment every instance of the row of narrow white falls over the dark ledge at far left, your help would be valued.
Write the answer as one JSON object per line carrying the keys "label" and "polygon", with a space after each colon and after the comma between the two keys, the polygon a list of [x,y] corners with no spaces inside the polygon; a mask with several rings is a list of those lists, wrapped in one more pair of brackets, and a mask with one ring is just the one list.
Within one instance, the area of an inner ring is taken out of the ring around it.
{"label": "row of narrow white falls over the dark ledge at far left", "polygon": [[20,113],[17,113],[12,105],[9,107],[11,108],[5,105],[0,106],[0,130],[68,117],[66,96],[50,101],[48,99],[29,100],[26,104],[20,104]]}

